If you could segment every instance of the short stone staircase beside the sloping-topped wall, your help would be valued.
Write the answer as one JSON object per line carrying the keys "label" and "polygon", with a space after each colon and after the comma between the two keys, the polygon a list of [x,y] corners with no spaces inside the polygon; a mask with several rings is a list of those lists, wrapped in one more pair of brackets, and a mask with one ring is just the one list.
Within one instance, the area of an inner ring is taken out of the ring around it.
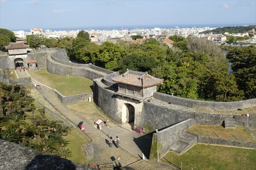
{"label": "short stone staircase beside the sloping-topped wall", "polygon": [[197,143],[197,136],[186,132],[184,133],[183,136],[177,139],[177,142],[172,145],[170,150],[172,150],[173,152],[179,155],[182,155],[191,147],[193,147],[196,143]]}

